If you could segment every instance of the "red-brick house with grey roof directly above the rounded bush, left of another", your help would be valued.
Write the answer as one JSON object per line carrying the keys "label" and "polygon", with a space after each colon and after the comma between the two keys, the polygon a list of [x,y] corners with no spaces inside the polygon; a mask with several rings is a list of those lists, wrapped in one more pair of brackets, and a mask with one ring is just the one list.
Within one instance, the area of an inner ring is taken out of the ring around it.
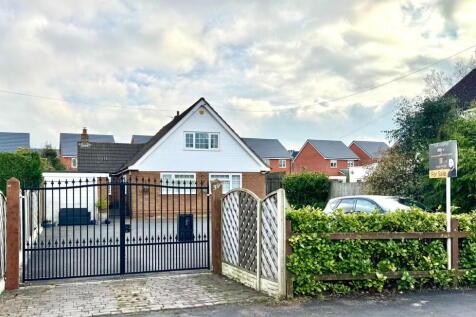
{"label": "red-brick house with grey roof directly above the rounded bush, left of another", "polygon": [[293,172],[321,172],[331,180],[346,182],[350,167],[359,157],[342,141],[306,140],[293,161]]}

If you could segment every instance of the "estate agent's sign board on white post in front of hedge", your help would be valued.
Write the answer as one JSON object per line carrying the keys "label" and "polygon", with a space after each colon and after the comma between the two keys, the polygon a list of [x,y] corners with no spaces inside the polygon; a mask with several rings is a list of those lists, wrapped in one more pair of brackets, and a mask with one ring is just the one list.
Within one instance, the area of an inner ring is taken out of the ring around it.
{"label": "estate agent's sign board on white post in front of hedge", "polygon": [[[446,230],[451,232],[451,178],[458,175],[456,141],[430,144],[430,178],[446,178]],[[451,270],[451,239],[446,242],[448,270]]]}

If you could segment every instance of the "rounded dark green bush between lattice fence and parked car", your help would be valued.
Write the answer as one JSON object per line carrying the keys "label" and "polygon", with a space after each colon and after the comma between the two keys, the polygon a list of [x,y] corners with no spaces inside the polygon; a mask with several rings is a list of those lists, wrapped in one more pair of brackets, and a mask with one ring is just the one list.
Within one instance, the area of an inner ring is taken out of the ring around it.
{"label": "rounded dark green bush between lattice fence and parked car", "polygon": [[323,208],[329,196],[329,178],[317,172],[288,174],[282,186],[286,191],[288,202],[295,208],[304,206]]}

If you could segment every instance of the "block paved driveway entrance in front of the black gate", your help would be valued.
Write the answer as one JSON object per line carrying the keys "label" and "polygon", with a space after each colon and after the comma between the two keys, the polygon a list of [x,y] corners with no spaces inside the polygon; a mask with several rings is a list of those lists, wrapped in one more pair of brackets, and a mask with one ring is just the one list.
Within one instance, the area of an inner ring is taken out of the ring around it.
{"label": "block paved driveway entrance in front of the black gate", "polygon": [[265,301],[210,272],[33,284],[0,295],[1,316],[98,316]]}

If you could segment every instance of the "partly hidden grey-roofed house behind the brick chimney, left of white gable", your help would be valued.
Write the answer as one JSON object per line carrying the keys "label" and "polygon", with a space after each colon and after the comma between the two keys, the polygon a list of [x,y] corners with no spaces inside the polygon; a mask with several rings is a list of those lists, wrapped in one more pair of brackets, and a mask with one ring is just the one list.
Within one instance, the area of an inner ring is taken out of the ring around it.
{"label": "partly hidden grey-roofed house behind the brick chimney, left of white gable", "polygon": [[78,168],[78,142],[114,143],[114,136],[105,134],[88,134],[86,128],[79,133],[60,133],[60,160],[67,170],[75,171]]}

